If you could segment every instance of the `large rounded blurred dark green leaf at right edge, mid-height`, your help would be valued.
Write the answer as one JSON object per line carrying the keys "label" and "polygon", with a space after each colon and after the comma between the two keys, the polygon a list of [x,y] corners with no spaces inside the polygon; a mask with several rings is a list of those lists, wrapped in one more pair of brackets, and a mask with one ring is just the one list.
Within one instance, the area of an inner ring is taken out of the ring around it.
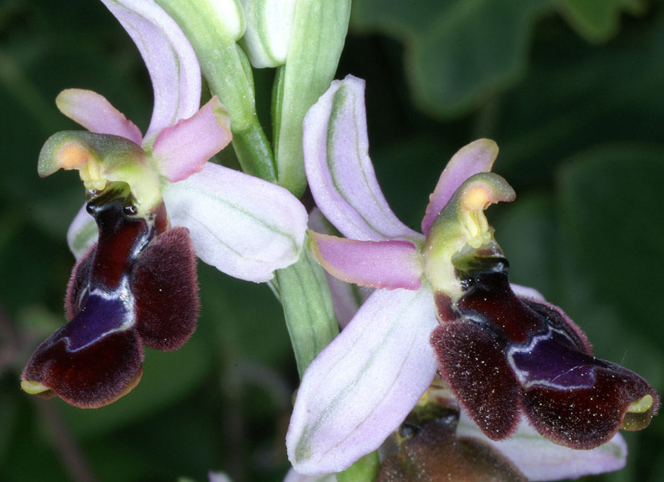
{"label": "large rounded blurred dark green leaf at right edge, mid-height", "polygon": [[[662,333],[664,146],[606,145],[569,160],[560,202],[573,249],[605,300],[624,300],[622,315]],[[608,215],[608,216],[606,216]],[[650,281],[646,281],[650,280]]]}

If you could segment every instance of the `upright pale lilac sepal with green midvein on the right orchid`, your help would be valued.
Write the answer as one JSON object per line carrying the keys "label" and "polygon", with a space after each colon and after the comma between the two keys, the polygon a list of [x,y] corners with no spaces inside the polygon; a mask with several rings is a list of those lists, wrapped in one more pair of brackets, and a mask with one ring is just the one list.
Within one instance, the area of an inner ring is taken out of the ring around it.
{"label": "upright pale lilac sepal with green midvein on the right orchid", "polygon": [[382,241],[423,236],[394,215],[369,158],[364,81],[334,81],[303,123],[309,186],[323,214],[346,238]]}

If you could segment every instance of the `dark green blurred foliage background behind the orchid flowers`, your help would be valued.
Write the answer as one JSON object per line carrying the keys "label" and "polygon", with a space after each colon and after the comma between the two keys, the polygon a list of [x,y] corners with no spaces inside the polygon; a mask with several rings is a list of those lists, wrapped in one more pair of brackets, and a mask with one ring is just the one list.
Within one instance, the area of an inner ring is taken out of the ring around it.
{"label": "dark green blurred foliage background behind the orchid flowers", "polygon": [[[356,0],[337,78],[348,73],[367,80],[370,152],[397,215],[419,228],[447,159],[493,138],[518,195],[488,212],[512,280],[663,392],[663,2]],[[255,75],[268,127],[272,71]],[[83,188],[72,172],[37,176],[44,140],[76,128],[54,105],[68,87],[147,127],[147,72],[101,2],[3,0],[0,480],[281,480],[297,384],[281,309],[267,286],[203,264],[197,333],[177,353],[148,350],[130,395],[85,411],[19,390],[63,322],[74,261],[65,234]],[[664,419],[625,438],[627,468],[588,480],[664,480]]]}

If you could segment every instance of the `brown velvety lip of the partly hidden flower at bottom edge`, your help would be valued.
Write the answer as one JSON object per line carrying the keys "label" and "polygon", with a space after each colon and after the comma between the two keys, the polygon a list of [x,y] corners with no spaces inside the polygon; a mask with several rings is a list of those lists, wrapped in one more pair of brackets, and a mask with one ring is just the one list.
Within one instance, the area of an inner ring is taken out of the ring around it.
{"label": "brown velvety lip of the partly hidden flower at bottom edge", "polygon": [[[458,415],[456,416],[458,417]],[[399,456],[385,459],[376,482],[525,482],[525,476],[487,443],[456,437],[456,418],[427,421]]]}

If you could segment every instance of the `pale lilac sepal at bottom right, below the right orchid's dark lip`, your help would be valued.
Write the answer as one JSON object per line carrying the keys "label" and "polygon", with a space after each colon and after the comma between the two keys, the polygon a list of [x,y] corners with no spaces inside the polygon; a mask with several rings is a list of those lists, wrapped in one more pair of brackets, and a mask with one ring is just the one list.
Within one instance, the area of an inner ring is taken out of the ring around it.
{"label": "pale lilac sepal at bottom right, below the right orchid's dark lip", "polygon": [[627,444],[621,434],[592,450],[559,446],[538,434],[524,419],[509,439],[494,441],[461,411],[459,437],[473,437],[489,443],[510,459],[530,481],[558,481],[603,474],[625,467]]}

